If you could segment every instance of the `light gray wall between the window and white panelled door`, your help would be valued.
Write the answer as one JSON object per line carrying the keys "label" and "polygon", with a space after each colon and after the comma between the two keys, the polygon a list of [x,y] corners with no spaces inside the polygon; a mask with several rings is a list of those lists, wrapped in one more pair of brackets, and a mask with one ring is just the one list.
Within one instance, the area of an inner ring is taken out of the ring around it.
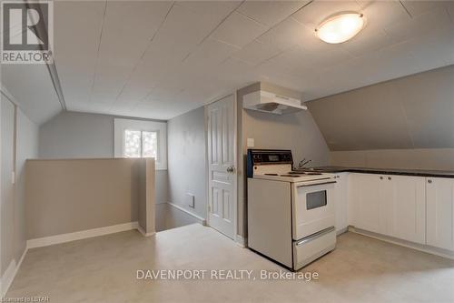
{"label": "light gray wall between the window and white panelled door", "polygon": [[[169,120],[167,137],[169,202],[206,217],[204,108]],[[195,208],[187,206],[187,193],[195,196]]]}

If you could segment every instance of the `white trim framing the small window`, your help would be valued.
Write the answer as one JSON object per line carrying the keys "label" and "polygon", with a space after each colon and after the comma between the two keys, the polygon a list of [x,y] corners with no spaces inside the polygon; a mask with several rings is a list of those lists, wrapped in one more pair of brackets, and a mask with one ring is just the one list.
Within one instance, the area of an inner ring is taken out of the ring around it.
{"label": "white trim framing the small window", "polygon": [[114,119],[114,157],[124,157],[124,131],[126,129],[144,130],[158,133],[156,169],[167,169],[167,123],[131,119]]}

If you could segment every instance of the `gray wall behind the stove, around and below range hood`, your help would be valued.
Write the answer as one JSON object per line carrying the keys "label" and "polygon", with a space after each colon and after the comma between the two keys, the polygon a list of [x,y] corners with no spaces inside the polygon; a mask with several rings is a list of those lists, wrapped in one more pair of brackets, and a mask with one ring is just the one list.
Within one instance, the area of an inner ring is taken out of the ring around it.
{"label": "gray wall behind the stove, around and below range hood", "polygon": [[247,138],[254,139],[253,148],[291,149],[295,164],[304,157],[312,160],[311,166],[325,166],[330,163],[330,150],[310,112],[301,111],[279,116],[242,109],[242,96],[259,88],[284,96],[301,97],[300,92],[268,83],[254,84],[238,91],[238,135],[241,143],[239,155],[242,155],[238,167],[238,234],[241,236],[247,234],[247,192],[244,161],[248,149]]}

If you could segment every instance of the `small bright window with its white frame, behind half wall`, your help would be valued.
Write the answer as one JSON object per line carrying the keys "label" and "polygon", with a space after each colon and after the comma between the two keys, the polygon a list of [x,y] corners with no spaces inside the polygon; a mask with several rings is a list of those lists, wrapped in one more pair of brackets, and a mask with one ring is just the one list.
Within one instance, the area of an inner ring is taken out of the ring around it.
{"label": "small bright window with its white frame, behind half wall", "polygon": [[153,157],[156,169],[167,169],[167,124],[114,119],[115,157]]}

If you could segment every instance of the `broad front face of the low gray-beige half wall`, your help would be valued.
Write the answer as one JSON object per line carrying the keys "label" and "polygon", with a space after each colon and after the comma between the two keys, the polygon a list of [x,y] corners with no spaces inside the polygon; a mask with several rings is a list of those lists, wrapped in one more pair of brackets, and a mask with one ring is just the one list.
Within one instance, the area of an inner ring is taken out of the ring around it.
{"label": "broad front face of the low gray-beige half wall", "polygon": [[143,158],[28,160],[27,238],[137,221],[143,185],[152,183],[144,166]]}

